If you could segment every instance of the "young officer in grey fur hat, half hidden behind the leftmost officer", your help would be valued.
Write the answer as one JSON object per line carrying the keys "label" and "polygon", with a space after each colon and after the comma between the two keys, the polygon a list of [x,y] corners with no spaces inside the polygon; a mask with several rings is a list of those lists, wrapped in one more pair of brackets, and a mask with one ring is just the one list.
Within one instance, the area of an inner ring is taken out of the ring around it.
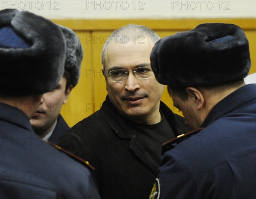
{"label": "young officer in grey fur hat, half hidden behind the leftmost officer", "polygon": [[54,89],[44,93],[37,111],[30,119],[35,133],[53,144],[57,144],[58,139],[70,129],[60,112],[62,105],[67,103],[72,89],[79,81],[83,58],[79,37],[71,29],[60,27],[66,40],[64,74]]}

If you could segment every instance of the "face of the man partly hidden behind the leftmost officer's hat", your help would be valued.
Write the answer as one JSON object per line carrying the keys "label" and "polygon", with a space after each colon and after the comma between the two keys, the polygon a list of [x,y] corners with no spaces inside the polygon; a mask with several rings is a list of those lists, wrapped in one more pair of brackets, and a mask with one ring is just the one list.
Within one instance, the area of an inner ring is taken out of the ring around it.
{"label": "face of the man partly hidden behind the leftmost officer's hat", "polygon": [[66,83],[66,79],[62,77],[55,89],[42,96],[37,112],[30,119],[36,133],[43,133],[55,124],[61,107],[67,102],[70,94],[70,91],[65,92]]}

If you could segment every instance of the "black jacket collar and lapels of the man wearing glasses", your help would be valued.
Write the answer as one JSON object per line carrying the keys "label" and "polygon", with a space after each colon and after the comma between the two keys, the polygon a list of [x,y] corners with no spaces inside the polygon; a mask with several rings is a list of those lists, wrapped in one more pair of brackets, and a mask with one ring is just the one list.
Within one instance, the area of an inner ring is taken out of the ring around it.
{"label": "black jacket collar and lapels of the man wearing glasses", "polygon": [[[160,110],[165,115],[167,121],[172,125],[174,132],[180,134],[187,132],[174,113],[163,102],[160,103]],[[121,115],[111,103],[108,95],[100,109],[108,124],[119,138],[131,139],[130,148],[150,169],[157,175],[160,166],[160,157],[146,142],[140,133],[131,125],[131,120]]]}

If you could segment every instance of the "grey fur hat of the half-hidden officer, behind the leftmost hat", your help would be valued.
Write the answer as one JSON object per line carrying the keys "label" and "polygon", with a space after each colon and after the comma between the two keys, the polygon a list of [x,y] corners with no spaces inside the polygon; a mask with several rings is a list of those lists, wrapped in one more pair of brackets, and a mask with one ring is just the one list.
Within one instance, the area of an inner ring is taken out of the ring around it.
{"label": "grey fur hat of the half-hidden officer, behind the leftmost hat", "polygon": [[70,73],[71,84],[76,86],[80,77],[81,62],[83,59],[83,49],[79,40],[73,30],[61,26],[61,30],[66,38],[66,61],[65,70]]}

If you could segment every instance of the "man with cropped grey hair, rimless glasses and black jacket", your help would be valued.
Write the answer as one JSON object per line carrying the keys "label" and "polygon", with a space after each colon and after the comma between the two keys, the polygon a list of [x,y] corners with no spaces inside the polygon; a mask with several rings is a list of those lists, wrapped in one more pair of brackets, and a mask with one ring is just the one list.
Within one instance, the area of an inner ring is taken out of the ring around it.
{"label": "man with cropped grey hair, rimless glasses and black jacket", "polygon": [[151,29],[133,24],[111,34],[102,50],[106,100],[58,142],[96,167],[103,199],[147,198],[161,144],[187,132],[183,118],[160,101],[164,86],[149,59],[157,40]]}

